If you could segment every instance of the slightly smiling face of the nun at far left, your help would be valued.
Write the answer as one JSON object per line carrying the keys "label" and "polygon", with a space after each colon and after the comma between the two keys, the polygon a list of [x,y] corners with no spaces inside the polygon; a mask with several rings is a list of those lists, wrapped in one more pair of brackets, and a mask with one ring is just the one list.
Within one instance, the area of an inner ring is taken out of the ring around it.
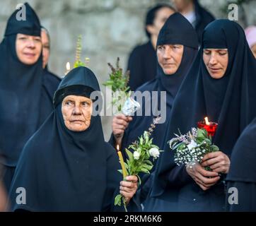
{"label": "slightly smiling face of the nun at far left", "polygon": [[16,35],[16,53],[18,59],[23,64],[35,64],[42,51],[42,42],[40,36]]}

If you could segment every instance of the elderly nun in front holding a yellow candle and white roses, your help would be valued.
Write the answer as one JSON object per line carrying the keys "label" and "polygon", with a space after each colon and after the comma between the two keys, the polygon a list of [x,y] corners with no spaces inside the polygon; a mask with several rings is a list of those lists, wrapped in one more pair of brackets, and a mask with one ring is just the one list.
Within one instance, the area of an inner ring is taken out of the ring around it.
{"label": "elderly nun in front holding a yellow candle and white roses", "polygon": [[[119,189],[127,200],[135,194],[137,178],[121,182],[117,152],[104,141],[93,91],[100,91],[98,81],[86,67],[62,80],[54,112],[23,148],[11,185],[12,210],[107,211],[114,210]],[[19,187],[25,203],[16,202]],[[135,207],[130,201],[129,210]]]}

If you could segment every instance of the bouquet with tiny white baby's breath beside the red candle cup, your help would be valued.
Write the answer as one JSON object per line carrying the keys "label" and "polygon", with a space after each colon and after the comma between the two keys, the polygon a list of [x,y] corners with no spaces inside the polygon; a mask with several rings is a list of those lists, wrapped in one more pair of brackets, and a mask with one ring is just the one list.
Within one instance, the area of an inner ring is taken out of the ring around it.
{"label": "bouquet with tiny white baby's breath beside the red candle cup", "polygon": [[[201,163],[204,155],[218,151],[219,148],[211,142],[211,136],[205,129],[192,128],[188,133],[175,134],[168,141],[171,150],[175,150],[174,161],[177,165],[192,165]],[[211,171],[209,167],[205,168]]]}

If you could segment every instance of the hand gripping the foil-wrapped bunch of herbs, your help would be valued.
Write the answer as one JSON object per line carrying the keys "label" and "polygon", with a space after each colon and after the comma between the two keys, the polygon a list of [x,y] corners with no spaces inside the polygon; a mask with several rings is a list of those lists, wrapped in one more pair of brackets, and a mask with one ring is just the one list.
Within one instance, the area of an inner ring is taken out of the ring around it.
{"label": "hand gripping the foil-wrapped bunch of herbs", "polygon": [[112,131],[119,145],[122,142],[124,130],[127,129],[130,121],[132,121],[132,117],[127,117],[124,114],[117,114],[112,120]]}

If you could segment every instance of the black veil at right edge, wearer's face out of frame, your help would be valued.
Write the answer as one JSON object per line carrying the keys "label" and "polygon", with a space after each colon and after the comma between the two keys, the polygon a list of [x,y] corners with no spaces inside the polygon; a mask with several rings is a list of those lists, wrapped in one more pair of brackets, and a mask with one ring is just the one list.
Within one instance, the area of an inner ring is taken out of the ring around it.
{"label": "black veil at right edge, wearer's face out of frame", "polygon": [[245,128],[231,155],[227,181],[256,183],[256,118]]}

